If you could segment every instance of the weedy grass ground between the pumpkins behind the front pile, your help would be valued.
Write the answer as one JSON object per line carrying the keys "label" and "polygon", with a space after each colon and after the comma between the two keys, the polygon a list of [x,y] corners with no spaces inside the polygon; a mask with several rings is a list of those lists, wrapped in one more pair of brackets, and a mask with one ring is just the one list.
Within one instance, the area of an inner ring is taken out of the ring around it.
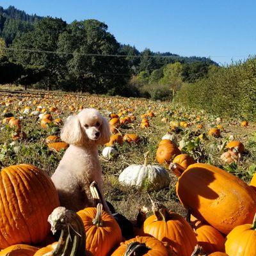
{"label": "weedy grass ground between the pumpkins behind the front pile", "polygon": [[[9,105],[6,102],[9,102]],[[19,106],[19,102],[22,104]],[[8,106],[6,106],[8,105]],[[40,93],[1,93],[0,96],[0,161],[3,166],[11,164],[30,163],[35,164],[49,175],[51,175],[64,152],[52,152],[45,144],[45,138],[53,133],[59,134],[52,127],[43,129],[40,127],[36,116],[22,114],[25,106],[30,106],[32,110],[36,106],[42,105],[46,109],[50,106],[57,106],[59,113],[52,113],[53,118],[60,117],[65,120],[68,115],[77,112],[70,111],[68,106],[74,105],[76,109],[79,106],[93,107],[99,109],[103,115],[108,116],[110,112],[119,113],[122,108],[134,108],[133,115],[137,120],[132,124],[124,125],[120,128],[120,132],[136,133],[141,137],[141,142],[137,145],[129,145],[124,143],[122,146],[116,145],[118,156],[107,161],[103,159],[99,148],[100,161],[104,173],[104,191],[105,196],[116,210],[124,214],[129,219],[134,219],[138,212],[138,208],[146,205],[150,207],[150,197],[165,204],[170,210],[179,212],[184,216],[184,207],[179,203],[175,193],[175,184],[177,178],[170,173],[171,182],[169,188],[160,191],[148,193],[147,189],[128,188],[122,186],[118,182],[118,175],[130,164],[143,164],[143,154],[150,151],[148,156],[150,163],[156,163],[157,144],[162,136],[170,131],[170,121],[180,122],[186,121],[189,124],[187,129],[181,128],[177,137],[179,141],[183,141],[185,147],[183,152],[188,152],[191,156],[202,163],[211,163],[227,172],[232,172],[245,182],[249,182],[256,170],[256,134],[255,125],[250,124],[249,127],[241,127],[235,118],[223,119],[221,125],[224,130],[221,131],[221,138],[212,138],[207,136],[207,130],[216,126],[216,117],[207,115],[204,112],[195,112],[180,106],[173,106],[168,102],[156,102],[144,99],[125,99],[122,97],[100,97],[96,95],[76,95],[74,93],[59,92],[40,92]],[[17,109],[18,108],[18,109]],[[150,118],[150,127],[148,129],[140,128],[140,115],[152,109],[156,113],[156,117]],[[4,111],[13,113],[15,117],[22,116],[22,131],[26,132],[27,139],[24,141],[12,140],[13,129],[3,124]],[[200,120],[196,120],[196,116],[200,115]],[[168,124],[161,122],[163,117],[168,118]],[[202,131],[196,130],[196,124],[203,124]],[[60,127],[61,128],[61,127]],[[203,134],[201,139],[198,138]],[[228,141],[230,136],[236,140],[241,140],[246,148],[246,154],[241,157],[239,163],[223,164],[220,160],[222,151],[221,145]],[[14,144],[14,145],[13,145]],[[149,197],[150,196],[150,197]]]}

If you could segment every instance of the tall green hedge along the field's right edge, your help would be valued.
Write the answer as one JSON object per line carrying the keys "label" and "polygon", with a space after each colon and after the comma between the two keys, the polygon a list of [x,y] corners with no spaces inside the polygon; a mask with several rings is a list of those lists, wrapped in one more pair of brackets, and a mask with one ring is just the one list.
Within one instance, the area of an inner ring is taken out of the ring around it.
{"label": "tall green hedge along the field's right edge", "polygon": [[175,100],[214,115],[256,120],[256,58],[220,67],[196,83],[184,84]]}

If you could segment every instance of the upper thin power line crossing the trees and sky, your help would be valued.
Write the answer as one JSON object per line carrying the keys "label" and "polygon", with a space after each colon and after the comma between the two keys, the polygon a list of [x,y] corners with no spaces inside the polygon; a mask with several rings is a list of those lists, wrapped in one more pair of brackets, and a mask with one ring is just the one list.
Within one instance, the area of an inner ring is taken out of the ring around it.
{"label": "upper thin power line crossing the trees and sky", "polygon": [[[116,57],[116,58],[141,58],[143,55],[122,55],[122,54],[97,54],[97,53],[83,53],[83,52],[57,52],[57,51],[44,51],[38,49],[22,49],[22,48],[6,48],[10,51],[24,51],[24,52],[41,52],[41,53],[51,53],[51,54],[67,54],[67,55],[80,55],[80,56],[101,56],[101,57]],[[248,55],[234,55],[234,56],[208,56],[205,58],[234,58],[234,57],[248,57]],[[150,55],[148,58],[184,58],[183,56],[173,56],[173,55]],[[185,57],[189,58],[189,57]],[[204,58],[204,57],[197,57]]]}

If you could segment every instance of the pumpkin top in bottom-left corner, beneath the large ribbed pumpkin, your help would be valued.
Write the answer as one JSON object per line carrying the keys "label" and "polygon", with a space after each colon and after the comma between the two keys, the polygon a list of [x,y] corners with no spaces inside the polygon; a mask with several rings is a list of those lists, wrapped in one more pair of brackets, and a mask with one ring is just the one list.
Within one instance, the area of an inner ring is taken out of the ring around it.
{"label": "pumpkin top in bottom-left corner, beneath the large ribbed pumpkin", "polygon": [[0,252],[0,256],[33,256],[38,250],[37,247],[27,244],[15,244]]}

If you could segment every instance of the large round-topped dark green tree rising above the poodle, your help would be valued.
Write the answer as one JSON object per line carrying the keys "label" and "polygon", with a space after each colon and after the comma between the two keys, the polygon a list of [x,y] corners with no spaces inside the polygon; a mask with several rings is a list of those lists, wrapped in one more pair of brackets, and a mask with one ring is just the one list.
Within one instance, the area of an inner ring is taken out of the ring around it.
{"label": "large round-topped dark green tree rising above the poodle", "polygon": [[98,20],[74,21],[60,35],[58,51],[72,52],[65,54],[66,70],[68,79],[76,81],[76,90],[120,94],[127,84],[130,77],[127,60],[104,56],[118,54],[120,48],[107,29]]}

